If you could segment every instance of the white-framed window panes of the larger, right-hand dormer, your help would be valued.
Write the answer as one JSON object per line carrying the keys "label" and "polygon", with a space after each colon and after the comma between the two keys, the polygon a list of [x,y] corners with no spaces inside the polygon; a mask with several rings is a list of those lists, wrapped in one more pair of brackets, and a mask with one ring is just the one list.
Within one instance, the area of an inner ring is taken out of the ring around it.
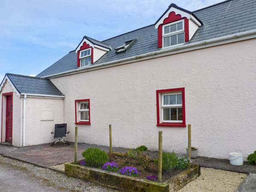
{"label": "white-framed window panes of the larger, right-hand dormer", "polygon": [[172,47],[183,44],[184,38],[184,20],[163,25],[163,47]]}

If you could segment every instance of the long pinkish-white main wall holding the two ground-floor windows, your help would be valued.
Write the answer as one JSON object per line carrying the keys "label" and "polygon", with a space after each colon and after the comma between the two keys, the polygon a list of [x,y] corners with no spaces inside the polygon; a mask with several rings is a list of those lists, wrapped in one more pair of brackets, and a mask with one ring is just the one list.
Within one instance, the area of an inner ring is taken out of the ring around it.
{"label": "long pinkish-white main wall holding the two ground-floor windows", "polygon": [[74,141],[75,99],[90,99],[91,125],[79,142],[185,153],[187,128],[157,127],[156,90],[185,87],[186,123],[199,155],[247,157],[256,146],[256,40],[210,47],[51,79],[65,95],[64,119]]}

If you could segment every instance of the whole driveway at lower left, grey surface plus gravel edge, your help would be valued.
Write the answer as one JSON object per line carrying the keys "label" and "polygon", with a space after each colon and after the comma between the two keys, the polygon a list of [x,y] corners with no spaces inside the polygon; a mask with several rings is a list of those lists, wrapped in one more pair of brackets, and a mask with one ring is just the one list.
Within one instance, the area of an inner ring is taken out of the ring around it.
{"label": "whole driveway at lower left, grey surface plus gravel edge", "polygon": [[0,192],[118,192],[0,156]]}

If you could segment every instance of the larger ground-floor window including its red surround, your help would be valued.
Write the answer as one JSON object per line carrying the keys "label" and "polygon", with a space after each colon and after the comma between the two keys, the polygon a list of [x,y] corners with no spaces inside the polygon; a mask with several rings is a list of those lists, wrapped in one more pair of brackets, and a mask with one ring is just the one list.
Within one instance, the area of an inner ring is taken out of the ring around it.
{"label": "larger ground-floor window including its red surround", "polygon": [[157,126],[186,127],[184,88],[157,90]]}

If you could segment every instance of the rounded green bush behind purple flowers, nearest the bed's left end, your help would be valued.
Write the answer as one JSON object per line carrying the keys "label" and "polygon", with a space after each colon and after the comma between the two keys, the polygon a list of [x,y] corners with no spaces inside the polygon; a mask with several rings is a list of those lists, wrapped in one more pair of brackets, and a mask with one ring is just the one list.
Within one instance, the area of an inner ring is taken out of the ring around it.
{"label": "rounded green bush behind purple flowers, nearest the bed's left end", "polygon": [[87,148],[82,152],[87,166],[102,167],[104,163],[108,162],[108,154],[99,148]]}

